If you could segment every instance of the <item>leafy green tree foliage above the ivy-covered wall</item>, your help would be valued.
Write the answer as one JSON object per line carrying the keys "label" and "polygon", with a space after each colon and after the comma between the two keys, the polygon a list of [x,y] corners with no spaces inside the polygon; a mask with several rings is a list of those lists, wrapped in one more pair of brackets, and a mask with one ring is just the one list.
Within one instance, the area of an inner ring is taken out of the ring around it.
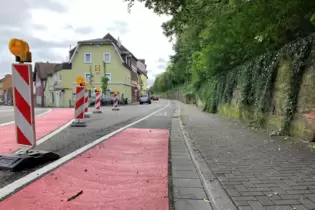
{"label": "leafy green tree foliage above the ivy-covered wall", "polygon": [[[129,2],[131,8],[136,0]],[[155,91],[192,83],[200,88],[216,75],[298,37],[315,32],[313,0],[138,0],[171,15],[164,33],[175,54]]]}

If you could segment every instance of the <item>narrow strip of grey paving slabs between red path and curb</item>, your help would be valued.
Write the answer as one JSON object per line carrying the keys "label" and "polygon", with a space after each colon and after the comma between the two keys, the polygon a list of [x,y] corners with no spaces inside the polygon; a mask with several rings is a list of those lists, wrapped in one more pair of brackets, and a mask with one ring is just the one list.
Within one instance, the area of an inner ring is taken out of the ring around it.
{"label": "narrow strip of grey paving slabs between red path and curb", "polygon": [[187,150],[178,119],[172,120],[171,154],[175,210],[212,210]]}

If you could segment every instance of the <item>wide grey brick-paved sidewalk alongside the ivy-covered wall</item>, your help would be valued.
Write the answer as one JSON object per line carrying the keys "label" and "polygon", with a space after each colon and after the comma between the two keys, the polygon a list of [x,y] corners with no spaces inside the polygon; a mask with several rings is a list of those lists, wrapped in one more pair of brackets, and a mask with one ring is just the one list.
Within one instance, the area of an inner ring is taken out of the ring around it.
{"label": "wide grey brick-paved sidewalk alongside the ivy-covered wall", "polygon": [[315,153],[176,103],[185,129],[238,209],[315,209]]}

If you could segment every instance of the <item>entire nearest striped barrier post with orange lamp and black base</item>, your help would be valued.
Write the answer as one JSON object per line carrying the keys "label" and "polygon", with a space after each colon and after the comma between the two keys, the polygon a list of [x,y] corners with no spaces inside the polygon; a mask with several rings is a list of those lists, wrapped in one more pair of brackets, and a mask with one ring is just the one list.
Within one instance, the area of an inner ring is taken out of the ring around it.
{"label": "entire nearest striped barrier post with orange lamp and black base", "polygon": [[34,150],[36,136],[32,65],[24,63],[31,63],[32,57],[28,43],[23,40],[12,39],[9,50],[19,62],[12,64],[12,81],[15,137],[22,149],[13,154],[0,155],[0,169],[20,171],[57,160],[60,156],[48,151]]}

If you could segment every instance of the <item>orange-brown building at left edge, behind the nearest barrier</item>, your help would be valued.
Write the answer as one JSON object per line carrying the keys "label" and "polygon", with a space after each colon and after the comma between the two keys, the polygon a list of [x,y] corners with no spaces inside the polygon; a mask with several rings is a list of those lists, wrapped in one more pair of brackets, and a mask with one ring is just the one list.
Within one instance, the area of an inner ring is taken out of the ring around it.
{"label": "orange-brown building at left edge, behind the nearest barrier", "polygon": [[6,74],[4,78],[0,79],[0,103],[12,105],[9,99],[13,99],[12,91],[12,75]]}

